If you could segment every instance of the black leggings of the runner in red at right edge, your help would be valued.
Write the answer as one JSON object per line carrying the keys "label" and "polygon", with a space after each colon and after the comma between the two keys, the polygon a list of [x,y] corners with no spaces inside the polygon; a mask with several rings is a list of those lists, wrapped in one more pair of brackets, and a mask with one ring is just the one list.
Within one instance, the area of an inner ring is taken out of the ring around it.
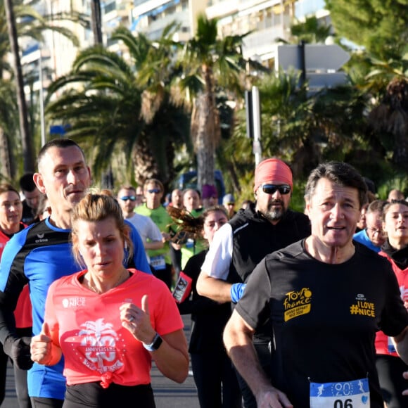
{"label": "black leggings of the runner in red at right edge", "polygon": [[400,357],[376,355],[376,369],[387,408],[408,407],[408,397],[402,395],[407,388],[407,380],[402,377],[402,373],[408,370],[407,364]]}

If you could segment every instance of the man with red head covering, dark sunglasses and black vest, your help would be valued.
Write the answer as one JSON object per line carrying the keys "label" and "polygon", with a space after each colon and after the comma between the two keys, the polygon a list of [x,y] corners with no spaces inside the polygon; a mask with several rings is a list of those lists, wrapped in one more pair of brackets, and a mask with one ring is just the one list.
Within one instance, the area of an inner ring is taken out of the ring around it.
{"label": "man with red head covering, dark sunglasses and black vest", "polygon": [[[248,276],[265,255],[310,235],[307,216],[289,209],[292,189],[292,172],[285,162],[269,158],[257,165],[255,203],[239,210],[215,234],[198,278],[200,295],[217,302],[238,302]],[[265,371],[270,365],[270,340],[266,325],[255,333],[254,345]],[[248,385],[238,379],[245,407],[257,407]]]}

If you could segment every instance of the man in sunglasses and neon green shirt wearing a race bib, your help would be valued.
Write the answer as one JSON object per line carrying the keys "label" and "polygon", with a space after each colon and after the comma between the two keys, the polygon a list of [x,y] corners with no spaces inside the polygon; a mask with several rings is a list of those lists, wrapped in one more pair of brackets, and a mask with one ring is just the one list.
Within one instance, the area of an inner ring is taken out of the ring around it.
{"label": "man in sunglasses and neon green shirt wearing a race bib", "polygon": [[160,249],[149,249],[148,257],[153,267],[153,274],[164,281],[168,288],[172,286],[172,258],[170,257],[170,225],[172,217],[162,205],[164,186],[158,179],[147,179],[144,182],[144,196],[146,201],[135,208],[137,214],[151,217],[152,221],[160,229],[164,246]]}

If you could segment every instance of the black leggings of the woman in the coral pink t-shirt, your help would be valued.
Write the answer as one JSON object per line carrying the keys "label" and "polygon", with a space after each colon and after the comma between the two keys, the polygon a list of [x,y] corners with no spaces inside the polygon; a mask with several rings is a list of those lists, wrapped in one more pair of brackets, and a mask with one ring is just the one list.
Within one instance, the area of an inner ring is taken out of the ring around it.
{"label": "black leggings of the woman in the coral pink t-shirt", "polygon": [[68,385],[63,408],[155,408],[151,385],[127,387],[111,383],[102,388],[101,383]]}

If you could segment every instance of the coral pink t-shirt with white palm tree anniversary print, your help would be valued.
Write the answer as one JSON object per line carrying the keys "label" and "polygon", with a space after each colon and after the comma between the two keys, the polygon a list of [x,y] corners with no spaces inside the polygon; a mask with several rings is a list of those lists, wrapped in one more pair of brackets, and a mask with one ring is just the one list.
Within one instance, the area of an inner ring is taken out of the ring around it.
{"label": "coral pink t-shirt with white palm tree anniversary print", "polygon": [[139,385],[151,382],[151,355],[122,327],[119,307],[132,302],[141,307],[148,295],[153,329],[160,335],[183,328],[169,289],[153,275],[130,269],[131,277],[110,291],[97,294],[79,282],[87,271],[53,282],[46,298],[45,321],[53,342],[65,357],[68,385],[101,381]]}

